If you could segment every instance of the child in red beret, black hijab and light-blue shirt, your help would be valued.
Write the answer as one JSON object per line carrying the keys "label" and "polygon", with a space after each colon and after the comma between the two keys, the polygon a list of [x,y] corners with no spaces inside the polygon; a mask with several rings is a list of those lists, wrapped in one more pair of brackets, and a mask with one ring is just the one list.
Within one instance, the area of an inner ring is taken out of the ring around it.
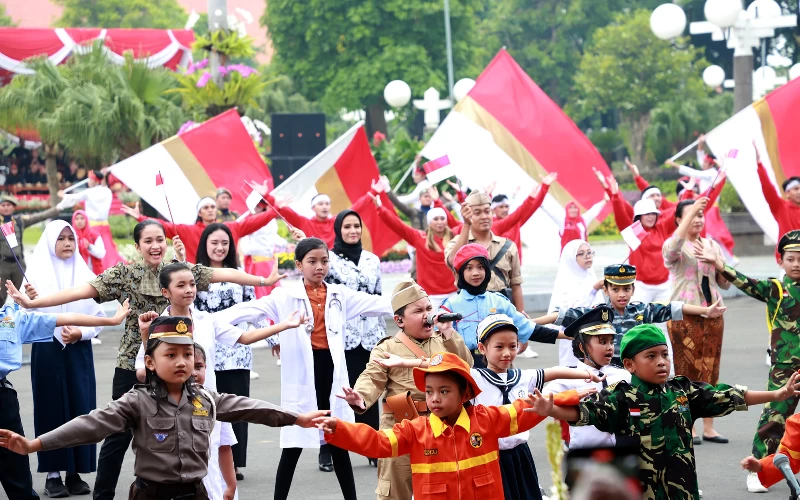
{"label": "child in red beret, black hijab and light-blue shirt", "polygon": [[523,344],[528,342],[528,339],[553,344],[557,338],[567,338],[558,330],[539,326],[528,319],[517,311],[505,295],[486,291],[492,275],[486,272],[489,269],[489,252],[483,245],[469,243],[459,248],[453,258],[453,268],[458,272],[459,290],[455,296],[445,300],[440,309],[459,313],[464,317],[455,322],[454,328],[461,334],[472,352],[476,367],[486,366],[483,353],[478,349],[476,327],[490,314],[505,314],[511,317],[519,332],[519,341]]}

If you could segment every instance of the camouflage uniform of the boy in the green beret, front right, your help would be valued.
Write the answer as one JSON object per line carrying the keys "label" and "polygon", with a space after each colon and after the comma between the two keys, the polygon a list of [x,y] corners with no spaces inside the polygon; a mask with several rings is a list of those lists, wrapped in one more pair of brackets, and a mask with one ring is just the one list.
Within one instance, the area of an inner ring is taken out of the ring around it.
{"label": "camouflage uniform of the boy in the green beret, front right", "polygon": [[644,500],[697,500],[692,424],[747,410],[745,392],[746,387],[712,386],[682,376],[655,385],[633,375],[630,383],[617,382],[581,401],[573,425],[638,440]]}

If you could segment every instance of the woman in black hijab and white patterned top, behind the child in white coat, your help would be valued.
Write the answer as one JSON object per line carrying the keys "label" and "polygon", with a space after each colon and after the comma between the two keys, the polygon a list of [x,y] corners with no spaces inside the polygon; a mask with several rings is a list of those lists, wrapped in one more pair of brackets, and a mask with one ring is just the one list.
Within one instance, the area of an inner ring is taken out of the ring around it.
{"label": "woman in black hijab and white patterned top, behind the child in white coat", "polygon": [[[351,290],[371,295],[380,295],[381,262],[377,255],[361,247],[361,216],[353,210],[343,210],[336,216],[333,230],[335,239],[330,252],[330,270],[325,282],[344,285]],[[367,367],[372,348],[385,336],[386,322],[382,317],[361,316],[347,322],[344,358],[350,387],[355,385],[358,376]],[[367,424],[373,429],[378,428],[379,419],[377,405],[361,415],[356,415],[356,422]],[[321,449],[320,468],[323,467],[324,453],[325,450]],[[370,465],[378,466],[376,459],[368,460]]]}

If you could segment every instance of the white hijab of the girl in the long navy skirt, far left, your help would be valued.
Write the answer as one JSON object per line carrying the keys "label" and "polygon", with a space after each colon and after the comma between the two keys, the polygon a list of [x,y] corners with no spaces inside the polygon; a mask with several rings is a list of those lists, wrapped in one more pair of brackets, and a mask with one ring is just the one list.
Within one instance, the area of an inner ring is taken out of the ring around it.
{"label": "white hijab of the girl in the long navy skirt, far left", "polygon": [[[72,257],[61,260],[56,257],[56,242],[61,231],[68,227],[75,235],[75,229],[63,220],[54,220],[44,228],[42,237],[33,249],[33,256],[28,260],[30,265],[26,270],[30,283],[36,288],[40,297],[82,285],[95,278],[94,273],[86,265],[78,251],[78,238],[75,236],[75,253]],[[24,293],[24,292],[23,292]],[[105,316],[100,304],[92,299],[83,299],[68,304],[43,307],[39,312],[62,313],[76,312],[90,316]],[[56,335],[61,334],[61,327],[55,329]]]}

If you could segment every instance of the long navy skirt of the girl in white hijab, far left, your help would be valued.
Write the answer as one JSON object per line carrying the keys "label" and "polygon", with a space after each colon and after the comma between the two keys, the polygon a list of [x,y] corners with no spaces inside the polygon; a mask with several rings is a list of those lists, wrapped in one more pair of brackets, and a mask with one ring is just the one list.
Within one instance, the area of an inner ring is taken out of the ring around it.
{"label": "long navy skirt of the girl in white hijab, far left", "polygon": [[[86,415],[97,406],[92,342],[36,342],[31,346],[33,427],[36,436]],[[88,474],[97,469],[96,445],[40,451],[39,472]]]}

